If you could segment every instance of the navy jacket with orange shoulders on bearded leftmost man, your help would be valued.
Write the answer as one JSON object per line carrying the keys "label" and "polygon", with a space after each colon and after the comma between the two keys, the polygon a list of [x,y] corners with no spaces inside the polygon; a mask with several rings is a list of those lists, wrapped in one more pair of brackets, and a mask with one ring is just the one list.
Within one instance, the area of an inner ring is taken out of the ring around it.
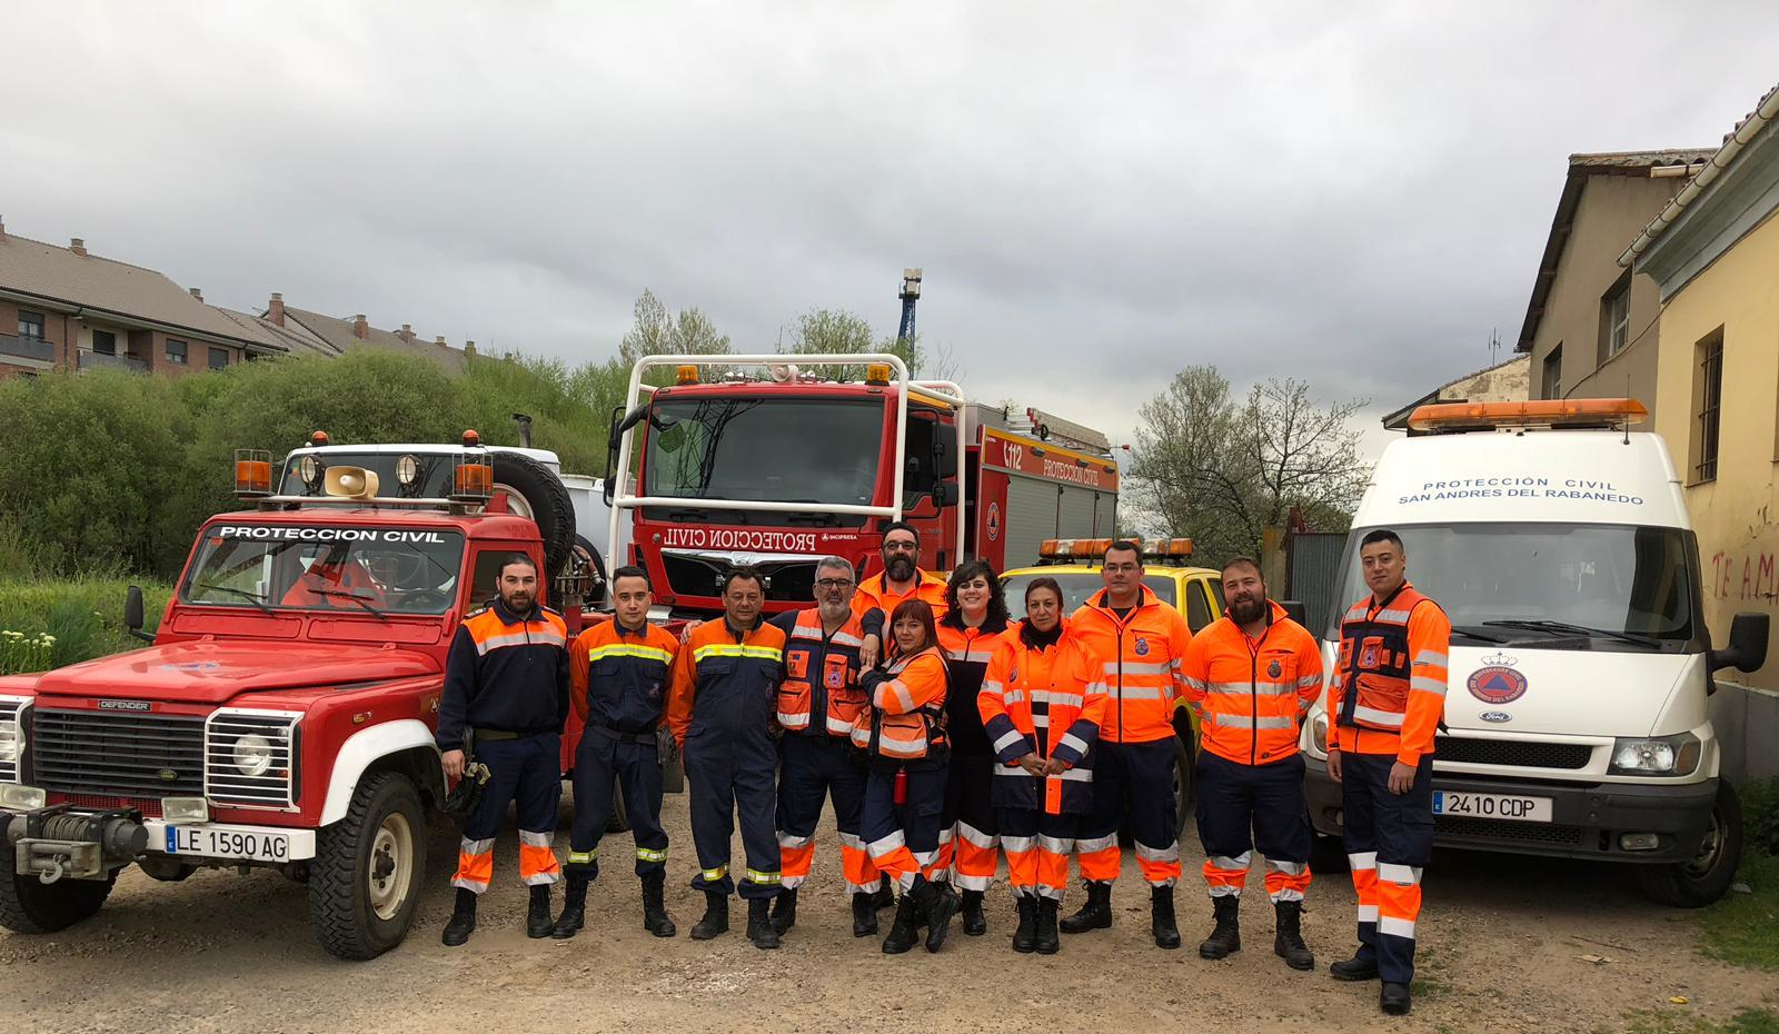
{"label": "navy jacket with orange shoulders on bearded leftmost man", "polygon": [[445,657],[441,751],[461,751],[464,728],[559,733],[568,721],[568,623],[550,607],[514,614],[495,600],[464,616]]}

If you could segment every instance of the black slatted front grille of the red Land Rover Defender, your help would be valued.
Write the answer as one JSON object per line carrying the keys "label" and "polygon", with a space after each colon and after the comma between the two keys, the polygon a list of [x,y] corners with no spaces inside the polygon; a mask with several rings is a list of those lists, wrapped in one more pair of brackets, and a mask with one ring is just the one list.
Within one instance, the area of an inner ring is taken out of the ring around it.
{"label": "black slatted front grille of the red Land Rover Defender", "polygon": [[32,780],[60,794],[196,797],[203,715],[32,708]]}

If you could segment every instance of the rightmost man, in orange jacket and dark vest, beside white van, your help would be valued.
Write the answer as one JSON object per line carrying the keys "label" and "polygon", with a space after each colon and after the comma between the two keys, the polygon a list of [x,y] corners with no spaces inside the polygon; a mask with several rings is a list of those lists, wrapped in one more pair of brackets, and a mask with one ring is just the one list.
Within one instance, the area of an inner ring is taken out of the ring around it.
{"label": "rightmost man, in orange jacket and dark vest, beside white van", "polygon": [[1421,868],[1434,847],[1434,735],[1445,715],[1452,623],[1407,582],[1407,552],[1388,529],[1359,541],[1372,594],[1340,625],[1329,682],[1329,776],[1341,787],[1341,835],[1359,895],[1359,950],[1329,970],[1382,981],[1379,1007],[1409,1011]]}

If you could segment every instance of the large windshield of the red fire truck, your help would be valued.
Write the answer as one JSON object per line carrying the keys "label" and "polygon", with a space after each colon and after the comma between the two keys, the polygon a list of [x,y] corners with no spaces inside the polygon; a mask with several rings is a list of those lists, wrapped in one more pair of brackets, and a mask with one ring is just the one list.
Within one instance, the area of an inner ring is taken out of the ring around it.
{"label": "large windshield of the red fire truck", "polygon": [[881,400],[665,399],[644,495],[870,505],[882,415]]}

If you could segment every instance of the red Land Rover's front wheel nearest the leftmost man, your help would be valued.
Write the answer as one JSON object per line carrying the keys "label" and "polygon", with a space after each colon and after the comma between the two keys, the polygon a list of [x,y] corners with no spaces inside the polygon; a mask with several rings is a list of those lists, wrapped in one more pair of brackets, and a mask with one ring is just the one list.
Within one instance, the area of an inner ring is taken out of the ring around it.
{"label": "red Land Rover's front wheel nearest the leftmost man", "polygon": [[310,918],[342,959],[374,959],[402,943],[427,872],[420,792],[400,772],[377,772],[352,792],[345,819],[315,838]]}

